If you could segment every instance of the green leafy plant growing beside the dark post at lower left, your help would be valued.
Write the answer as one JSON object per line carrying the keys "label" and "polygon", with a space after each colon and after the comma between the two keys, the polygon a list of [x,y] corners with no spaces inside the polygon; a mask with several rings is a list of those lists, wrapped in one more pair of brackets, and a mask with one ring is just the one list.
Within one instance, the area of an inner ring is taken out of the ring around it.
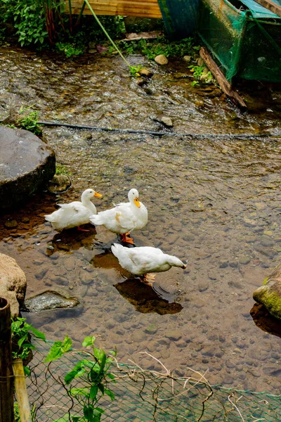
{"label": "green leafy plant growing beside the dark post at lower left", "polygon": [[[41,340],[45,340],[44,333],[27,324],[26,318],[17,317],[12,319],[11,332],[12,332],[12,354],[13,359],[20,358],[23,362],[30,357],[32,350],[35,346],[30,341],[30,333]],[[29,375],[30,370],[24,366],[25,373]]]}

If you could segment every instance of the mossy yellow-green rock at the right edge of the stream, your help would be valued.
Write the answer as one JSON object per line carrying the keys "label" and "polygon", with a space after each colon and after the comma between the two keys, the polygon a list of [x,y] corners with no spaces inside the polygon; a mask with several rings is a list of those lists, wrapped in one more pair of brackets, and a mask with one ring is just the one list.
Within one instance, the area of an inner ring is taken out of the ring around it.
{"label": "mossy yellow-green rock at the right edge of the stream", "polygon": [[268,309],[271,315],[281,319],[281,264],[263,281],[263,286],[253,293],[256,302]]}

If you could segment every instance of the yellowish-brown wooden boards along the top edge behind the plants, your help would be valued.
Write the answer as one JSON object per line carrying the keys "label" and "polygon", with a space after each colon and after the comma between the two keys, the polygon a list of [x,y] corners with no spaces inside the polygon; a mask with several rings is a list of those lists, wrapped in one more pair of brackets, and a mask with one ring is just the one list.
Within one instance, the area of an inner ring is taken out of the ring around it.
{"label": "yellowish-brown wooden boards along the top edge behind the plants", "polygon": [[[97,15],[139,16],[143,18],[162,18],[157,0],[91,0],[89,1]],[[79,14],[83,0],[72,1],[72,14]],[[68,1],[65,3],[68,12]],[[91,15],[86,6],[85,15]]]}

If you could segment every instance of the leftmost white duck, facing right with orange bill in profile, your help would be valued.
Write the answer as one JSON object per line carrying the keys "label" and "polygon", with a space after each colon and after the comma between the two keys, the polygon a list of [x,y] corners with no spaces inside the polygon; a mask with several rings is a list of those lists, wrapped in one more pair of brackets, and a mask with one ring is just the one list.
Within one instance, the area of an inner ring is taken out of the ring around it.
{"label": "leftmost white duck, facing right with orange bill in profile", "polygon": [[52,212],[50,215],[45,215],[45,219],[52,223],[52,226],[56,230],[71,229],[72,227],[78,227],[81,231],[82,224],[88,224],[90,222],[90,216],[97,213],[95,205],[91,202],[91,198],[96,196],[100,198],[100,193],[93,189],[86,189],[81,195],[81,202],[75,200],[68,204],[58,204],[59,210]]}

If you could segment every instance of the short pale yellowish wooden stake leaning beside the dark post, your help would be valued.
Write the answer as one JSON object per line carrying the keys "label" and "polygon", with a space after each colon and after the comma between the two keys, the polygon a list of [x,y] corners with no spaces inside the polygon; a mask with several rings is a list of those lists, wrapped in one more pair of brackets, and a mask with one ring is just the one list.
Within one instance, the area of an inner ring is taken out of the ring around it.
{"label": "short pale yellowish wooden stake leaning beside the dark post", "polygon": [[15,376],[15,397],[18,402],[20,422],[32,422],[22,359],[13,359],[13,374]]}

